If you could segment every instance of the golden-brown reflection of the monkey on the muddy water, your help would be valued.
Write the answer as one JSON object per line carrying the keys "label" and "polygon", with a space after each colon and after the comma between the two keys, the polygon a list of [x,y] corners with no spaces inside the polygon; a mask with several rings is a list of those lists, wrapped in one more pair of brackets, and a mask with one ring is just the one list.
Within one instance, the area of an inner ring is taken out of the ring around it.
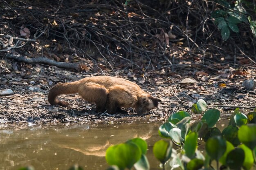
{"label": "golden-brown reflection of the monkey on the muddy water", "polygon": [[[138,125],[138,127],[129,127],[129,125],[116,125],[108,129],[77,129],[76,135],[60,136],[52,138],[52,142],[60,148],[72,149],[77,152],[82,152],[84,155],[94,155],[105,157],[106,150],[113,144],[120,144],[128,139],[140,137],[148,140],[152,137],[153,132],[157,132],[158,125],[148,124]],[[153,130],[154,129],[154,130]],[[59,132],[58,132],[59,133]],[[65,132],[61,132],[65,134]],[[70,132],[69,132],[70,134]]]}

